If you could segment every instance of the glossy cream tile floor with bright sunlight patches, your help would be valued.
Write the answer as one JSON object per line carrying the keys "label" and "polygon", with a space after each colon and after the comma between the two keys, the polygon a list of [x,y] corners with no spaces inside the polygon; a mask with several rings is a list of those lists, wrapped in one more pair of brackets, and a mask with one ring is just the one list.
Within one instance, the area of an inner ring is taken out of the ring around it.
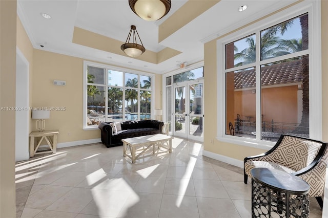
{"label": "glossy cream tile floor with bright sunlight patches", "polygon": [[[202,156],[202,144],[173,139],[172,154],[137,160],[122,146],[60,148],[16,163],[16,217],[251,217],[241,168]],[[310,217],[321,217],[311,199]]]}

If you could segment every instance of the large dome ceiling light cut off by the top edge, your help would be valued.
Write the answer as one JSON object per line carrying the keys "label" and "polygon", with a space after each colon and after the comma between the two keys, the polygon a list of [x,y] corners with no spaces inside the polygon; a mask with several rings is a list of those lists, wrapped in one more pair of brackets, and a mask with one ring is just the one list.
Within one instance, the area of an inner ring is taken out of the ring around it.
{"label": "large dome ceiling light cut off by the top edge", "polygon": [[162,18],[171,9],[170,0],[129,0],[129,5],[134,13],[148,21]]}

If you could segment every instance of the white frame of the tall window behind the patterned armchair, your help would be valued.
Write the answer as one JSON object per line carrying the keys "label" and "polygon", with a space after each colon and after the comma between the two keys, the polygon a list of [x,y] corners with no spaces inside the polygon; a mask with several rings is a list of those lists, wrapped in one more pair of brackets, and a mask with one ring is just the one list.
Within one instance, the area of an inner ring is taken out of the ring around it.
{"label": "white frame of the tall window behind the patterned armchair", "polygon": [[[236,32],[232,32],[217,40],[217,140],[238,145],[270,149],[275,142],[261,140],[260,134],[256,139],[226,135],[226,80],[225,80],[225,46],[228,43],[241,39],[245,36],[256,34],[256,45],[260,45],[260,31],[283,21],[308,13],[309,18],[309,49],[293,54],[284,55],[283,58],[302,56],[309,54],[309,127],[310,138],[322,139],[322,84],[321,84],[321,3],[320,1],[304,1],[295,6],[282,10],[272,16],[266,17]],[[258,47],[258,46],[257,46]],[[236,71],[260,66],[260,49],[256,51],[256,62],[240,67],[229,69]],[[263,63],[275,62],[281,57],[270,58],[261,61]],[[316,72],[316,73],[314,73]],[[261,78],[260,68],[256,68],[256,129],[261,129]]]}

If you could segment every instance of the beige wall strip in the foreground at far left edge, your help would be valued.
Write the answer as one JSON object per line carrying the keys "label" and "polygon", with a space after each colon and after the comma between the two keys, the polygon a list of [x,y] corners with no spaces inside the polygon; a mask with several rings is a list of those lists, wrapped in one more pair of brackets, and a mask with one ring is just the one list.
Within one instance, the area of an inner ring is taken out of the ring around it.
{"label": "beige wall strip in the foreground at far left edge", "polygon": [[[15,106],[16,7],[0,1],[0,107]],[[15,217],[15,111],[0,111],[0,217]]]}

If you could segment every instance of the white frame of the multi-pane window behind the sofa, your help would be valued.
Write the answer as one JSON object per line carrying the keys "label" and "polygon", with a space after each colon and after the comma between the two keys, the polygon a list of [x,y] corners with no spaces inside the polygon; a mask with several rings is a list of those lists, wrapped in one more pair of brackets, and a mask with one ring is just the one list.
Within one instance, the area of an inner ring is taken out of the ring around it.
{"label": "white frame of the multi-pane window behind the sofa", "polygon": [[[93,83],[96,86],[104,86],[106,87],[106,93],[108,92],[109,87],[114,87],[114,88],[119,88],[123,90],[123,99],[122,99],[122,114],[125,114],[125,90],[126,89],[134,89],[137,90],[138,93],[138,116],[140,115],[139,111],[139,105],[140,105],[140,96],[139,93],[140,91],[150,91],[151,92],[151,118],[154,119],[154,92],[155,92],[155,74],[151,73],[146,73],[146,72],[141,72],[137,70],[131,70],[127,68],[121,68],[121,67],[115,67],[103,63],[96,63],[92,61],[83,61],[83,129],[84,130],[94,130],[98,129],[98,125],[87,125],[87,105],[88,105],[88,93],[87,93],[87,88],[88,88],[88,66],[91,67],[96,67],[96,68],[104,68],[106,69],[106,74],[105,74],[105,81],[106,84],[98,84],[98,83]],[[113,70],[113,71],[120,71],[123,73],[122,79],[123,79],[123,86],[115,86],[115,85],[109,85],[108,84],[108,70]],[[138,88],[132,88],[125,86],[125,73],[130,73],[130,74],[137,74],[138,76]],[[140,75],[142,76],[149,76],[151,77],[151,88],[150,89],[142,89],[140,88]],[[108,107],[108,95],[105,94],[105,106]]]}

